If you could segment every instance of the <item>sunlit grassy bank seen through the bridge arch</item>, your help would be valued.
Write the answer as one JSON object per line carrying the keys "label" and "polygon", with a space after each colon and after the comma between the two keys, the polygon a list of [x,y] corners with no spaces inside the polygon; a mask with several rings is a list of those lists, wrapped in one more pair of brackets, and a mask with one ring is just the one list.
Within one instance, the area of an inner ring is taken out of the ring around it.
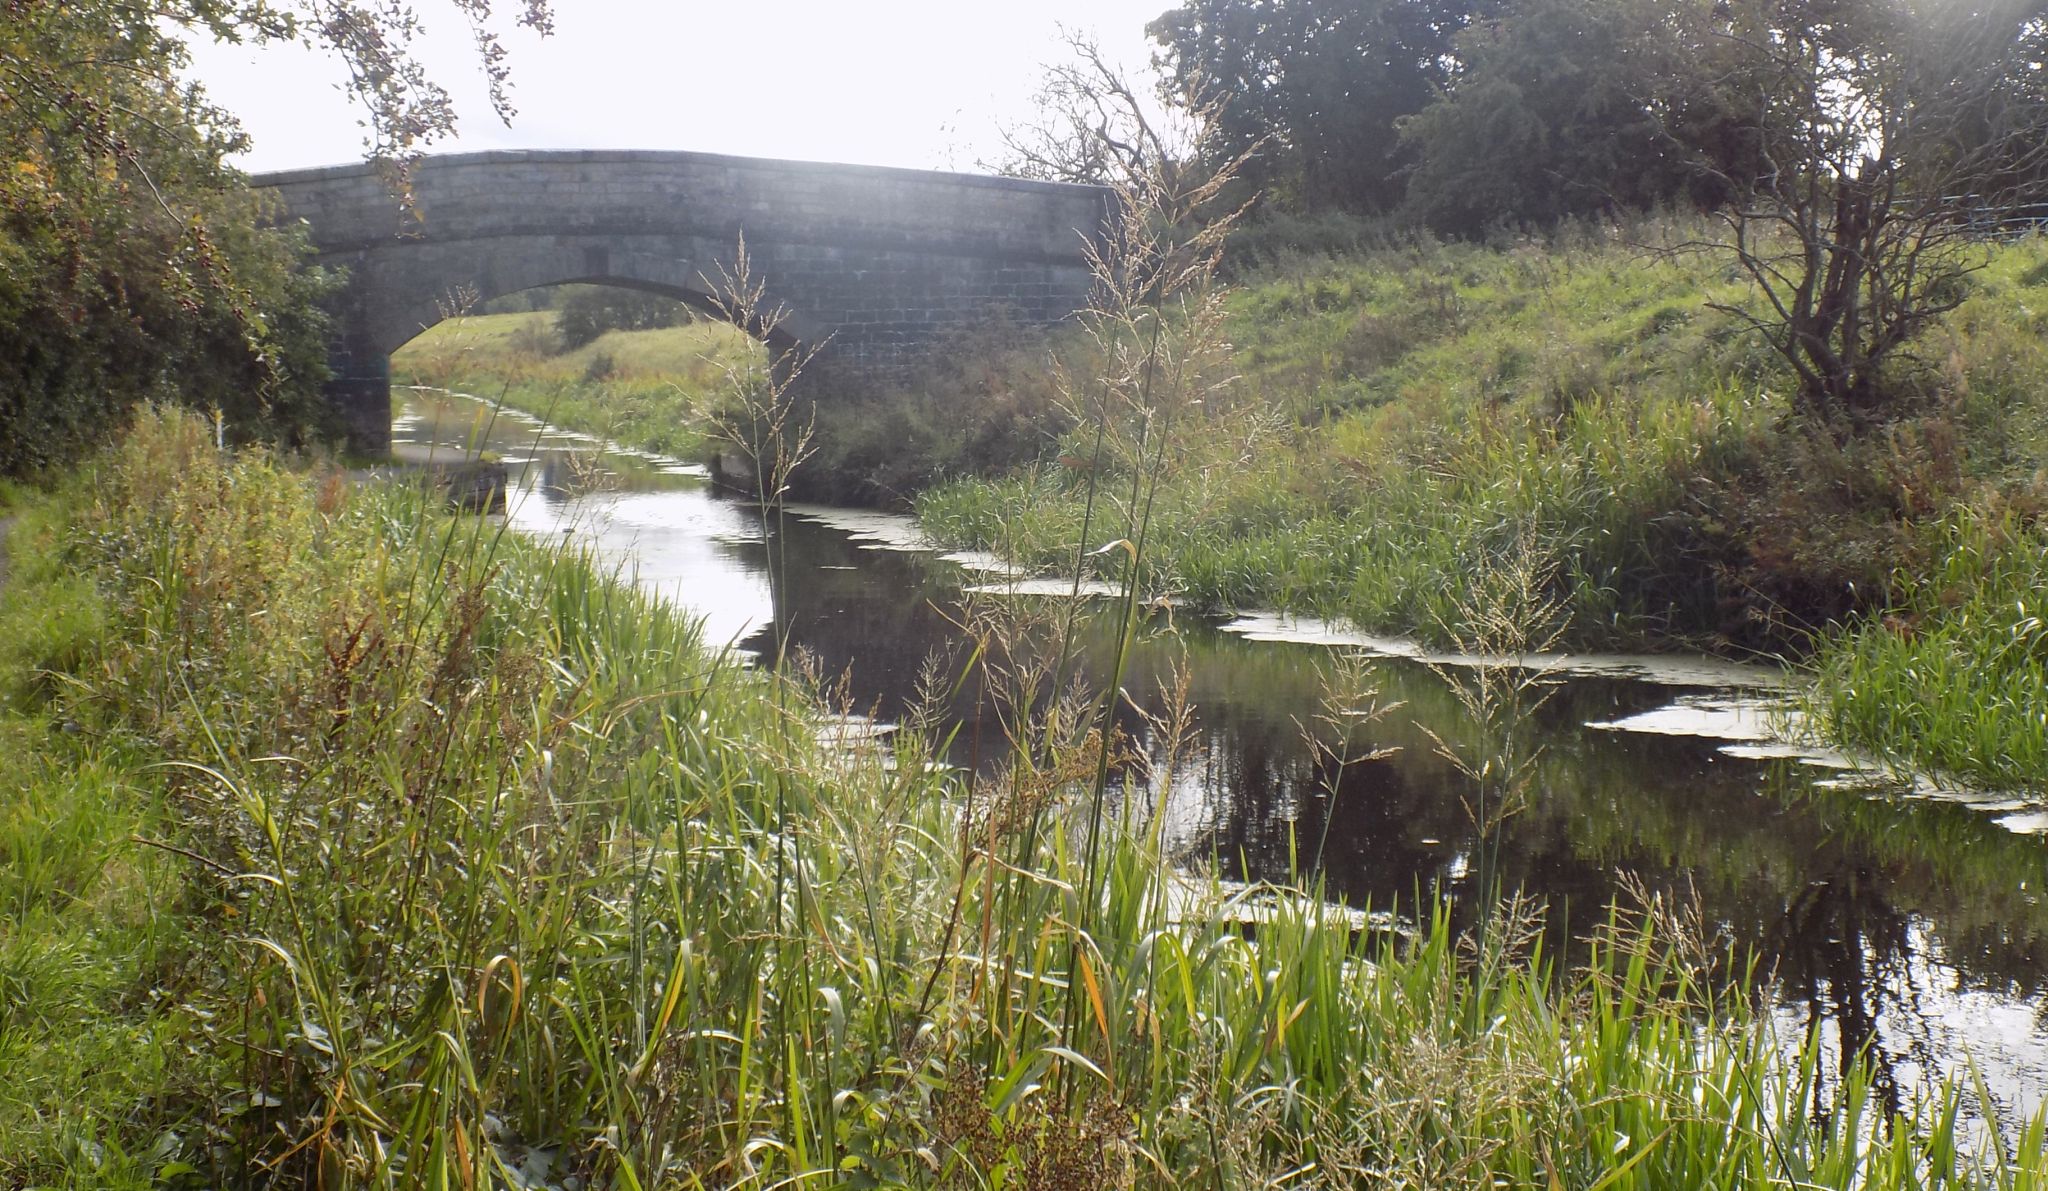
{"label": "sunlit grassy bank seen through the bridge arch", "polygon": [[500,399],[569,430],[698,458],[727,368],[760,352],[721,321],[606,332],[555,350],[555,311],[461,315],[391,356],[391,381]]}

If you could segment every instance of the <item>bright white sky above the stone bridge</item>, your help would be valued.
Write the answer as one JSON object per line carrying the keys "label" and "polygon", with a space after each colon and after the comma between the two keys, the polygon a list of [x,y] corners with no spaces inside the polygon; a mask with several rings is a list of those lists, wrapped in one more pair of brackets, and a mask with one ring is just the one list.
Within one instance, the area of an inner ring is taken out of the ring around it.
{"label": "bright white sky above the stone bridge", "polygon": [[[500,0],[510,14],[516,0]],[[1094,33],[1139,72],[1145,23],[1174,0],[557,0],[555,35],[506,35],[512,102],[492,117],[467,27],[418,4],[422,53],[461,113],[430,151],[700,149],[756,158],[973,170],[1030,115],[1059,27]],[[362,156],[342,68],[297,47],[195,45],[193,76],[236,113],[244,170]]]}

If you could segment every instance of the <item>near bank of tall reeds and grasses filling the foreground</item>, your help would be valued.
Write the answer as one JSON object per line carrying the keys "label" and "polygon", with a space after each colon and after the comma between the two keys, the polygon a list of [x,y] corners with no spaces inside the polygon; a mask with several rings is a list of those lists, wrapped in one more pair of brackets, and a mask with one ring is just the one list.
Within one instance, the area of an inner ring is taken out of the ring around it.
{"label": "near bank of tall reeds and grasses filling the foreground", "polygon": [[12,557],[10,1183],[2040,1185],[1815,1101],[1665,917],[1167,913],[1057,771],[829,751],[575,557],[197,424]]}

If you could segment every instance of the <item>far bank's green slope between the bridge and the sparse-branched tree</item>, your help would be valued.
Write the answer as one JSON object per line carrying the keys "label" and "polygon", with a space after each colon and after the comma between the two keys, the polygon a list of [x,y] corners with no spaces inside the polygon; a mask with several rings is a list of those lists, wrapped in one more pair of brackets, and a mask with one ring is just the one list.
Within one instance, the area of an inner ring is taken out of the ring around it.
{"label": "far bank's green slope between the bridge and the sparse-branched tree", "polygon": [[[1714,561],[1683,514],[1769,407],[1712,321],[1657,313],[1696,309],[1706,278],[1634,268],[1610,241],[1409,244],[1294,268],[1231,297],[1241,381],[1167,452],[1165,585],[1200,608],[1454,636],[1473,559],[1528,528],[1563,561],[1575,645],[1718,626]],[[1065,454],[1085,460],[1085,442]],[[948,485],[920,514],[1051,563],[1085,477]]]}

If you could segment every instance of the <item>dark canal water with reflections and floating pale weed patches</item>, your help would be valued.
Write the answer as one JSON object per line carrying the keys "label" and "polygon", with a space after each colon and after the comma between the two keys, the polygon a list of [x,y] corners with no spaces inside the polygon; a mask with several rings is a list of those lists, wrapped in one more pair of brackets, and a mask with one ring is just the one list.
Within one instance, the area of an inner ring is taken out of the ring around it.
{"label": "dark canal water with reflections and floating pale weed patches", "polygon": [[[786,638],[881,720],[920,706],[928,659],[956,669],[963,591],[1006,583],[926,548],[907,518],[793,508],[764,528],[698,467],[469,399],[403,393],[393,438],[414,454],[496,452],[512,526],[594,548],[711,643],[768,655]],[[770,538],[784,583],[768,581]],[[2048,817],[1786,743],[1774,669],[1532,659],[1540,749],[1507,817],[1475,804],[1456,759],[1487,753],[1475,659],[1280,616],[1161,614],[1124,690],[1157,712],[1176,673],[1194,712],[1171,788],[1145,796],[1196,874],[1315,870],[1327,896],[1395,921],[1430,898],[1470,921],[1485,888],[1522,890],[1548,907],[1552,945],[1618,896],[1661,892],[1753,956],[1786,1033],[1819,1031],[1835,1062],[1868,1052],[1901,1097],[1974,1066],[1993,1103],[1972,1111],[2005,1121],[2048,1103]],[[1331,706],[1346,686],[1354,698]],[[948,716],[956,763],[993,751],[993,714],[971,694]],[[1124,726],[1163,749],[1137,712]]]}

